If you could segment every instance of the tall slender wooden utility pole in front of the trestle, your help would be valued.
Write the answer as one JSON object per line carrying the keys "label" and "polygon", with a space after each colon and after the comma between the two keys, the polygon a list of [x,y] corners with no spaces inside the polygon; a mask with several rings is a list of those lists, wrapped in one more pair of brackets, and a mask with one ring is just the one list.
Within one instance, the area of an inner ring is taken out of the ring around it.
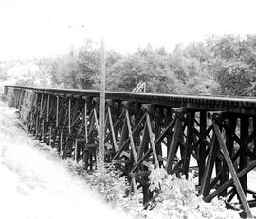
{"label": "tall slender wooden utility pole in front of the trestle", "polygon": [[105,44],[101,38],[101,73],[100,73],[100,127],[99,127],[99,168],[104,169],[104,124],[105,124]]}

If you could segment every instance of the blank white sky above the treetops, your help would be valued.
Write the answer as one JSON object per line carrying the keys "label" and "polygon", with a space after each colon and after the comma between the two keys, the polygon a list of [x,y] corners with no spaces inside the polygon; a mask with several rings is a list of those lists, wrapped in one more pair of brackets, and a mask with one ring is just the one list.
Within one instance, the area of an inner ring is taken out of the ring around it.
{"label": "blank white sky above the treetops", "polygon": [[127,53],[256,34],[255,7],[255,0],[0,0],[0,60],[67,52],[86,38]]}

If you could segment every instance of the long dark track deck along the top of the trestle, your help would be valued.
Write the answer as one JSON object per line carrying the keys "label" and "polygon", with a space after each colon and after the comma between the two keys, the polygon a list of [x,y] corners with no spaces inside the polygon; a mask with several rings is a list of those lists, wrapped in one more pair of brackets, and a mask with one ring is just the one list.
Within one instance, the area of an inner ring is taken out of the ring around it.
{"label": "long dark track deck along the top of the trestle", "polygon": [[[54,93],[56,95],[79,95],[99,97],[97,90],[40,88],[27,86],[6,85],[8,89],[31,90],[37,93]],[[227,97],[210,95],[185,95],[170,93],[132,93],[132,92],[106,92],[106,99],[131,101],[143,104],[162,105],[173,108],[187,108],[208,111],[227,111],[244,114],[256,114],[256,98],[254,97]]]}

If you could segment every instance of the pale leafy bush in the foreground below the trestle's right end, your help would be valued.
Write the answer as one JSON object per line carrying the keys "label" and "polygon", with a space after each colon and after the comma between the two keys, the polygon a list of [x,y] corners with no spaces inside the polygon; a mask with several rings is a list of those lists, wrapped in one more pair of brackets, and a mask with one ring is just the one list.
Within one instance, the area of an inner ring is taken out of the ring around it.
{"label": "pale leafy bush in the foreground below the trestle's right end", "polygon": [[237,211],[227,210],[221,200],[205,203],[195,190],[191,177],[177,178],[165,169],[155,169],[150,175],[151,190],[159,191],[148,218],[240,218]]}

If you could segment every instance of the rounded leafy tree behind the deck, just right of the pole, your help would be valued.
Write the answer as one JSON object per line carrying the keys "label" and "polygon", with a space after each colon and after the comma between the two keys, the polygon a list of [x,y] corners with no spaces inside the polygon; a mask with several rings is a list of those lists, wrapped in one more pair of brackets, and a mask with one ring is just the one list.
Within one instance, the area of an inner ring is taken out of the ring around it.
{"label": "rounded leafy tree behind the deck, just right of the pole", "polygon": [[108,89],[132,91],[139,82],[146,82],[147,92],[183,92],[167,58],[163,50],[153,50],[150,45],[145,49],[139,48],[134,54],[119,59],[108,69]]}

